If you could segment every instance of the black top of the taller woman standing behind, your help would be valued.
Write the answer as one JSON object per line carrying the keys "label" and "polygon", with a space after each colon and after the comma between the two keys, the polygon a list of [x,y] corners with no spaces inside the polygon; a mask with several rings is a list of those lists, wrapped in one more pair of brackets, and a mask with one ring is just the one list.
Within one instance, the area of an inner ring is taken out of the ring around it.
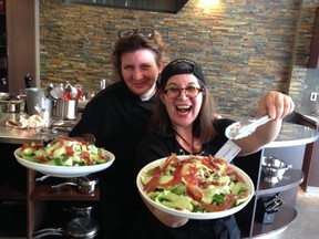
{"label": "black top of the taller woman standing behind", "polygon": [[99,92],[83,111],[70,136],[91,133],[95,145],[115,155],[111,167],[100,173],[101,226],[105,238],[127,238],[138,211],[133,175],[135,148],[144,136],[156,96],[142,102],[124,81]]}

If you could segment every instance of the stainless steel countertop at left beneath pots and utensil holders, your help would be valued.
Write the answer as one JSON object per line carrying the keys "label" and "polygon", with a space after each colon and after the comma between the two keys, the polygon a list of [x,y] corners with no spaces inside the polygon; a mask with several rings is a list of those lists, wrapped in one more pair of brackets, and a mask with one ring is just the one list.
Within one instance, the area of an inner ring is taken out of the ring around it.
{"label": "stainless steel countertop at left beneath pots and utensil holders", "polygon": [[[43,141],[50,141],[56,136],[66,135],[66,132],[58,132],[55,134],[50,132],[42,132],[41,128],[32,129],[19,129],[11,126],[7,126],[6,122],[8,119],[18,119],[20,117],[19,113],[3,113],[0,112],[0,143],[8,144],[25,144],[31,142],[41,143]],[[51,123],[56,123],[52,119]],[[70,124],[75,124],[76,121],[66,122]]]}

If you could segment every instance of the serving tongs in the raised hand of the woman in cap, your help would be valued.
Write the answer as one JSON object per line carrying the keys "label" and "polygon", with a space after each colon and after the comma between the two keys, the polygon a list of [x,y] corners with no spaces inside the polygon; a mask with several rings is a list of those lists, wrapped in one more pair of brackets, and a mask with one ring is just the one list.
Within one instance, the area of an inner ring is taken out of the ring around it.
{"label": "serving tongs in the raised hand of the woman in cap", "polygon": [[226,128],[225,135],[229,139],[247,137],[248,135],[253,134],[257,127],[266,124],[270,119],[271,118],[269,115],[266,114],[264,116],[249,119],[247,124],[240,124],[239,122],[236,122]]}

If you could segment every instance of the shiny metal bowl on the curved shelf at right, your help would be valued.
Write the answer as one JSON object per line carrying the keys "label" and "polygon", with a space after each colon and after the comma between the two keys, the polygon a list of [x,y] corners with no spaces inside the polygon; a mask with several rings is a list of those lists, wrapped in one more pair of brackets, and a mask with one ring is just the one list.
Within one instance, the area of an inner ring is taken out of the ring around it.
{"label": "shiny metal bowl on the curved shelf at right", "polygon": [[[287,165],[285,162],[280,160],[276,157],[263,157],[261,160],[261,175],[271,183],[276,181],[276,179],[281,179],[285,172],[291,167],[291,165]],[[277,181],[276,181],[277,183]]]}

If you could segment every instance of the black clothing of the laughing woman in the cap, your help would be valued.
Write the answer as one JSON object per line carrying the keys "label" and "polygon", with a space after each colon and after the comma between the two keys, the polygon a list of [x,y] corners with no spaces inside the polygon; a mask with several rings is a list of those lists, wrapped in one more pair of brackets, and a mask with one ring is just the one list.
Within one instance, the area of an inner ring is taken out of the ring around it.
{"label": "black clothing of the laughing woman in the cap", "polygon": [[[234,123],[230,119],[216,119],[214,126],[218,135],[209,143],[203,145],[202,155],[215,155],[218,149],[228,141],[225,136],[225,129]],[[145,137],[137,148],[137,172],[146,164],[166,157],[175,153],[177,155],[189,154],[176,141],[174,134],[167,137],[150,135]],[[138,239],[209,239],[209,238],[240,238],[240,231],[237,227],[234,216],[214,219],[214,220],[189,220],[186,225],[178,228],[171,228],[163,225],[152,212],[144,206],[140,214],[138,220],[133,229],[131,237]]]}

